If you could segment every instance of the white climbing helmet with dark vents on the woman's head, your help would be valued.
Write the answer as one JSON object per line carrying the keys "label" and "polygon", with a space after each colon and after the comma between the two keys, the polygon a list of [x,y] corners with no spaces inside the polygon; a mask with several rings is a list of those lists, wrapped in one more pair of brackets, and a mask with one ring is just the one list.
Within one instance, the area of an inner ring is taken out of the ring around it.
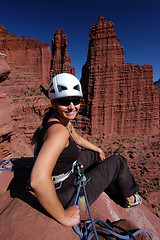
{"label": "white climbing helmet with dark vents on the woman's head", "polygon": [[82,87],[74,75],[60,73],[52,79],[48,89],[48,96],[50,99],[83,97]]}

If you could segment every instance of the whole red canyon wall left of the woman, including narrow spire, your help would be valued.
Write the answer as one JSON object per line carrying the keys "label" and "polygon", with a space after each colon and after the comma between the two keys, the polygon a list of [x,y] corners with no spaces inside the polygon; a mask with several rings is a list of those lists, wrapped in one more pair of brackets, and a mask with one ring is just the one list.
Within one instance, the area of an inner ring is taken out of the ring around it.
{"label": "whole red canyon wall left of the woman, including narrow spire", "polygon": [[0,52],[0,158],[9,153],[30,155],[31,137],[50,106],[41,90],[47,92],[50,78],[55,74],[75,75],[67,52],[67,38],[63,30],[55,32],[51,58],[49,44],[17,37],[0,25]]}

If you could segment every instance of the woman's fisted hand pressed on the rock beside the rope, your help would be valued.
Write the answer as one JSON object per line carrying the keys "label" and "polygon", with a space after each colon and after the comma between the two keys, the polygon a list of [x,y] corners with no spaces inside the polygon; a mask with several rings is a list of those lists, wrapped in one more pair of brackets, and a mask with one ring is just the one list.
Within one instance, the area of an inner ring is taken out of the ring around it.
{"label": "woman's fisted hand pressed on the rock beside the rope", "polygon": [[80,210],[78,206],[71,206],[65,210],[65,219],[62,222],[67,227],[76,226],[80,219]]}

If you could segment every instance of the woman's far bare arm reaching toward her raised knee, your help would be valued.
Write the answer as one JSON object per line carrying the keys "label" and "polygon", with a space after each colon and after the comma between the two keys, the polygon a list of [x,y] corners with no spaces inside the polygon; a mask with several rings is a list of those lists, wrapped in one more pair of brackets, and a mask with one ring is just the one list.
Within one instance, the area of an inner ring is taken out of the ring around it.
{"label": "woman's far bare arm reaching toward her raised knee", "polygon": [[103,150],[101,148],[98,148],[96,145],[94,145],[93,143],[87,141],[86,139],[84,139],[83,137],[81,137],[76,131],[75,129],[72,127],[72,134],[73,137],[76,141],[76,143],[81,146],[84,147],[86,149],[89,150],[93,150],[99,153],[99,156],[101,158],[101,160],[103,161],[105,159],[105,153],[103,152]]}

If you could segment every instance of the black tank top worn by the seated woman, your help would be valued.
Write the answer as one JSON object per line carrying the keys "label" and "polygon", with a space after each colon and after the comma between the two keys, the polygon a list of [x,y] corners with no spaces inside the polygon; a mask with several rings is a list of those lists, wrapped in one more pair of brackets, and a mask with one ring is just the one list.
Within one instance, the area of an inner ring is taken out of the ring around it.
{"label": "black tank top worn by the seated woman", "polygon": [[[44,135],[49,127],[51,127],[54,124],[58,124],[57,121],[47,122],[45,125],[42,134],[38,140],[37,144],[37,151],[36,155],[38,155],[42,145],[43,145],[43,139]],[[61,123],[59,123],[61,124]],[[72,168],[72,163],[78,159],[79,156],[79,148],[77,147],[77,144],[73,141],[71,137],[69,137],[69,145],[65,147],[60,154],[57,163],[54,167],[52,175],[59,175],[62,173],[66,173]]]}

